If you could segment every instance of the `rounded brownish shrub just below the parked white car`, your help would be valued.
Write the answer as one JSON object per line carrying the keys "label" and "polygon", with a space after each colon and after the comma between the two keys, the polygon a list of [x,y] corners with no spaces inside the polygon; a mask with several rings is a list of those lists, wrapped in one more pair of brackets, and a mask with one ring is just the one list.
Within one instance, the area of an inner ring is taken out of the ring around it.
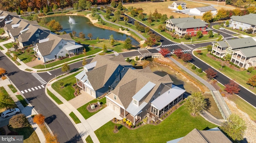
{"label": "rounded brownish shrub just below the parked white car", "polygon": [[9,124],[12,128],[28,127],[30,125],[24,114],[14,115],[10,118]]}

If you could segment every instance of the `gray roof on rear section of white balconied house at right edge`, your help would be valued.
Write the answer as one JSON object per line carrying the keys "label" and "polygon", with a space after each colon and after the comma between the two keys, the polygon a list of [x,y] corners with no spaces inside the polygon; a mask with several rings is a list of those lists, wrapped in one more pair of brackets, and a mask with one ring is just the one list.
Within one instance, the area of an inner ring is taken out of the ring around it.
{"label": "gray roof on rear section of white balconied house at right edge", "polygon": [[226,41],[230,45],[231,49],[238,49],[243,47],[254,47],[256,46],[256,41],[252,37],[241,38],[241,39],[231,39]]}

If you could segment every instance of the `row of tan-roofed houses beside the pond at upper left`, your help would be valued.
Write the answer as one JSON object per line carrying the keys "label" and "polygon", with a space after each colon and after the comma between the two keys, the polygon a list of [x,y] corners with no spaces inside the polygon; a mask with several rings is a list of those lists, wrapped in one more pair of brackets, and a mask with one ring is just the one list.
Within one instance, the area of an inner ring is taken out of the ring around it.
{"label": "row of tan-roofed houses beside the pond at upper left", "polygon": [[0,11],[0,24],[13,42],[20,48],[32,45],[36,57],[44,63],[75,53],[82,53],[83,46],[76,43],[69,34],[56,35],[36,21],[28,21],[16,13]]}

